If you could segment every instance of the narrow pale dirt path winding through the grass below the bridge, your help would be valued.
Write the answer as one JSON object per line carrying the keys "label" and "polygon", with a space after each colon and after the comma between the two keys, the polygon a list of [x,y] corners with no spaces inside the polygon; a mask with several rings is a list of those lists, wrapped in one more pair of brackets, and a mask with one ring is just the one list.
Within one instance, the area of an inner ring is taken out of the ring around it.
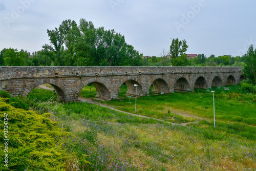
{"label": "narrow pale dirt path winding through the grass below the bridge", "polygon": [[[109,109],[111,109],[111,110],[118,111],[118,112],[122,112],[122,113],[126,113],[126,114],[130,114],[130,115],[133,115],[133,116],[138,116],[138,117],[142,117],[142,118],[154,119],[154,120],[158,120],[158,121],[163,121],[163,122],[171,123],[171,122],[168,122],[168,121],[165,121],[165,120],[161,120],[161,119],[156,119],[156,118],[151,118],[151,117],[147,117],[147,116],[143,116],[143,115],[137,115],[137,114],[133,114],[133,113],[129,113],[129,112],[120,111],[120,110],[118,110],[118,109],[113,108],[112,106],[104,105],[104,104],[101,104],[101,103],[99,103],[99,102],[97,102],[97,101],[93,101],[92,99],[88,99],[88,98],[78,97],[78,100],[79,100],[79,102],[82,102],[83,100],[86,100],[87,103],[96,104],[96,105],[102,106],[102,107],[104,107],[104,108],[109,108]],[[175,113],[175,112],[173,112],[173,113]],[[180,115],[180,113],[175,113],[175,114]],[[183,116],[183,115],[182,115],[182,116]],[[188,114],[184,114],[184,116],[186,116],[186,117],[200,118],[200,117],[197,117],[197,116],[188,116]],[[200,119],[202,119],[202,118],[200,118]],[[189,123],[197,123],[197,122],[198,122],[198,121],[196,121],[196,122],[187,122],[187,123],[171,123],[171,124],[173,124],[173,125],[184,125],[184,126],[186,126],[186,125],[189,124]]]}

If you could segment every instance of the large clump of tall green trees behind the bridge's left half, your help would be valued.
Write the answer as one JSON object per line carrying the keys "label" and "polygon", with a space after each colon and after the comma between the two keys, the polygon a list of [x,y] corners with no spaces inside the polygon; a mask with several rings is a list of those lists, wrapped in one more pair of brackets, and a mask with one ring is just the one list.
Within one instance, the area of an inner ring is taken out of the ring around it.
{"label": "large clump of tall green trees behind the bridge's left half", "polygon": [[[1,51],[1,66],[141,66],[142,54],[125,42],[120,33],[95,28],[92,22],[64,20],[47,30],[50,44],[30,53],[9,48]],[[22,50],[23,51],[23,50]],[[18,60],[16,60],[18,59]]]}

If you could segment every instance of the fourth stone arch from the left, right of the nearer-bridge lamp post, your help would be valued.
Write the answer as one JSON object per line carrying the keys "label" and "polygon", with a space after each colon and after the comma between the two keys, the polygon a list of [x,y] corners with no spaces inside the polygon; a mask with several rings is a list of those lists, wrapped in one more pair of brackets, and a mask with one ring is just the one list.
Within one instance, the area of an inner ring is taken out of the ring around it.
{"label": "fourth stone arch from the left, right of the nearer-bridge lamp post", "polygon": [[152,92],[153,93],[170,93],[170,87],[167,84],[167,81],[164,78],[159,77],[155,77],[150,85],[148,86],[148,92],[150,90],[151,85],[153,84],[153,89]]}

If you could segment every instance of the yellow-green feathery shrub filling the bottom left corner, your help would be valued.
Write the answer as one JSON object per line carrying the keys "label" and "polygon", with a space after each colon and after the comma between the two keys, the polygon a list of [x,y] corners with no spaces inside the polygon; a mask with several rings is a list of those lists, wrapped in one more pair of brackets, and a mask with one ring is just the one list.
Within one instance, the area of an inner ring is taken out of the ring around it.
{"label": "yellow-green feathery shrub filling the bottom left corner", "polygon": [[[8,168],[1,164],[1,170],[65,170],[66,153],[56,145],[55,140],[55,137],[60,136],[61,130],[56,122],[48,119],[51,114],[37,115],[32,111],[15,109],[2,98],[0,106],[1,127],[4,127],[4,113],[8,114],[9,125]],[[1,142],[4,142],[4,129],[1,130],[1,135]],[[4,149],[3,143],[0,146]],[[1,163],[4,155],[2,150]]]}

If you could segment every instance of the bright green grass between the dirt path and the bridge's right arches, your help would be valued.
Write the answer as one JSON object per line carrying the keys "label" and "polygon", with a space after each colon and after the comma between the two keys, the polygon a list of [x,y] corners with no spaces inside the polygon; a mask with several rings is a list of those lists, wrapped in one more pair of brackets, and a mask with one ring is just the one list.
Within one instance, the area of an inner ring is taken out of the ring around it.
{"label": "bright green grass between the dirt path and the bridge's right arches", "polygon": [[[256,95],[238,94],[231,92],[232,89],[239,89],[231,86],[229,92],[215,90],[216,119],[223,121],[235,121],[251,125],[256,125]],[[197,90],[198,91],[198,90]],[[201,91],[201,90],[200,90]],[[170,93],[164,96],[144,96],[137,99],[137,112],[135,112],[135,99],[124,98],[122,101],[100,101],[104,104],[115,106],[115,108],[140,114],[148,117],[172,121],[173,115],[169,111],[187,111],[191,114],[212,119],[213,116],[213,97],[212,93]],[[193,121],[183,118],[180,122]],[[179,122],[178,122],[179,123]]]}

